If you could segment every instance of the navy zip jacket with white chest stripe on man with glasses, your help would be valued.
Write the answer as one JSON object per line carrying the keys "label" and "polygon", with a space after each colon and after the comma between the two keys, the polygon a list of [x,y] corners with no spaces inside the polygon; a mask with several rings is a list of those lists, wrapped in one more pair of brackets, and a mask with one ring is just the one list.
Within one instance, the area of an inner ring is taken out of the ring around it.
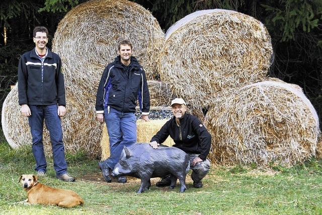
{"label": "navy zip jacket with white chest stripe on man with glasses", "polygon": [[24,53],[18,66],[19,105],[65,106],[65,85],[60,66],[61,60],[58,54],[48,48],[43,63],[35,48]]}

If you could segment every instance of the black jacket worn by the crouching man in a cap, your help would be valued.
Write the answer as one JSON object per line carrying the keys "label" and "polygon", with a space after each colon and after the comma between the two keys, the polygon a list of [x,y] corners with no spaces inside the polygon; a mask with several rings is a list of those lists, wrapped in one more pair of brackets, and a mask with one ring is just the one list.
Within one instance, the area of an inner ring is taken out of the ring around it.
{"label": "black jacket worn by the crouching man in a cap", "polygon": [[200,154],[199,158],[206,160],[211,146],[211,135],[197,117],[185,113],[180,119],[180,127],[176,123],[176,117],[173,117],[162,126],[150,142],[156,141],[162,144],[169,135],[175,141],[174,147],[188,154]]}

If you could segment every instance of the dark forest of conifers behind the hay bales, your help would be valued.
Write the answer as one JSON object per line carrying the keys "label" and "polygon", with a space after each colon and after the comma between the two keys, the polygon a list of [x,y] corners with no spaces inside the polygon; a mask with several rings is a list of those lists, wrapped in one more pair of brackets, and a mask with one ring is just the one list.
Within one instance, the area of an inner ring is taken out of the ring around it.
{"label": "dark forest of conifers behind the hay bales", "polygon": [[[86,1],[43,0],[0,3],[0,104],[17,82],[18,60],[32,49],[32,30],[46,26],[51,41],[60,20]],[[205,9],[234,10],[265,24],[274,49],[270,76],[297,84],[322,118],[322,0],[132,0],[149,10],[166,31],[186,15]],[[321,126],[321,123],[320,123]]]}

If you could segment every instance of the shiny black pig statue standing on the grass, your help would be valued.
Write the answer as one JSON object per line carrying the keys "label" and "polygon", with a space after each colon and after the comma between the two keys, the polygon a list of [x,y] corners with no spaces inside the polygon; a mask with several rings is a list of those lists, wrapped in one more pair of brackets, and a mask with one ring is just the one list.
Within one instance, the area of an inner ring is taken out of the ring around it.
{"label": "shiny black pig statue standing on the grass", "polygon": [[180,192],[186,188],[186,175],[189,171],[189,156],[175,147],[158,147],[153,149],[149,144],[134,144],[124,147],[120,161],[115,165],[112,176],[132,176],[141,179],[141,186],[137,193],[148,190],[151,186],[150,178],[171,176],[169,189],[180,181]]}

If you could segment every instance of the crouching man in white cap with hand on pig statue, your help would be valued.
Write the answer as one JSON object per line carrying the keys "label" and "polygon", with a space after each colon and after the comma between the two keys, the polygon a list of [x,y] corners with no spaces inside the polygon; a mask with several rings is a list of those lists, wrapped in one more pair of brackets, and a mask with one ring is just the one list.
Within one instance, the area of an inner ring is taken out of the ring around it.
{"label": "crouching man in white cap with hand on pig statue", "polygon": [[[189,155],[193,186],[201,188],[201,179],[206,176],[210,168],[207,155],[210,151],[211,135],[197,117],[186,113],[187,106],[183,99],[172,100],[171,107],[174,117],[152,137],[150,146],[156,149],[170,135],[175,142],[173,147]],[[156,186],[168,186],[170,183],[170,176],[166,176],[156,183]]]}

